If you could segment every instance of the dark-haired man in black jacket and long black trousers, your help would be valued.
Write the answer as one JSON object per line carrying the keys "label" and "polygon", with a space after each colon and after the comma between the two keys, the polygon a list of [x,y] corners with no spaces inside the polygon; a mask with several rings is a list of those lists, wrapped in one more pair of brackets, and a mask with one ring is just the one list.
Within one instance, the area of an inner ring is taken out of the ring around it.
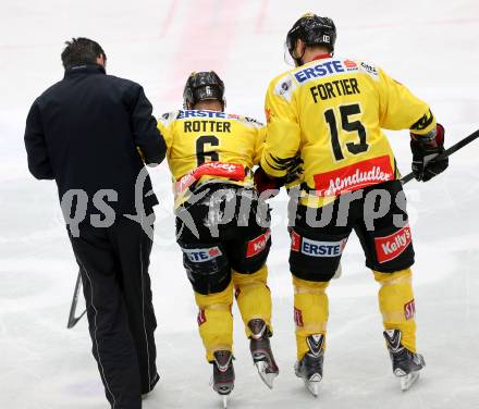
{"label": "dark-haired man in black jacket and long black trousers", "polygon": [[167,148],[143,88],[106,75],[97,42],[73,39],[61,57],[64,78],[26,120],[28,169],[57,182],[107,399],[137,409],[159,379],[147,234],[158,200],[144,162],[160,163]]}

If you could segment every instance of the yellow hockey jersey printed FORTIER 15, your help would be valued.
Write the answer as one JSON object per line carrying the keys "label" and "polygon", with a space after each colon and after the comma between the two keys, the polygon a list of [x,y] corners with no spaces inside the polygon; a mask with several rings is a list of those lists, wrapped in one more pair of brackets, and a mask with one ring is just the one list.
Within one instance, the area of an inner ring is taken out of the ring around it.
{"label": "yellow hockey jersey printed FORTIER 15", "polygon": [[300,157],[302,201],[314,207],[400,177],[381,128],[418,135],[435,128],[428,104],[380,67],[329,55],[275,77],[265,110],[262,169],[283,177]]}

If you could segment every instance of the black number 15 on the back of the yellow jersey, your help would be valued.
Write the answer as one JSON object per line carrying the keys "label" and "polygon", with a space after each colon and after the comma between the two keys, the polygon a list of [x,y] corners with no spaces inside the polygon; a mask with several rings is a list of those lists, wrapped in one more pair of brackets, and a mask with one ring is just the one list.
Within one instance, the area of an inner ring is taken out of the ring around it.
{"label": "black number 15 on the back of the yellow jersey", "polygon": [[[357,132],[359,135],[359,142],[346,142],[347,150],[353,154],[358,154],[361,152],[366,152],[369,148],[366,142],[366,128],[359,121],[349,122],[349,115],[356,115],[361,113],[360,107],[358,103],[354,103],[351,106],[341,106],[340,114],[341,114],[341,126],[346,132]],[[334,114],[333,109],[329,109],[324,111],[324,119],[328,122],[331,132],[331,145],[333,147],[333,153],[336,161],[341,161],[344,159],[343,151],[341,150],[339,132],[337,132],[337,123],[336,116]]]}

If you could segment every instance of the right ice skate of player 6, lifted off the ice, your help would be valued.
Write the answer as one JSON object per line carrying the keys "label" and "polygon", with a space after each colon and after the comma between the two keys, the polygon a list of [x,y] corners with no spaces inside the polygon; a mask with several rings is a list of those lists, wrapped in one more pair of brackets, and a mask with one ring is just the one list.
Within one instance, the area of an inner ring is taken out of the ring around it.
{"label": "right ice skate of player 6, lifted off the ice", "polygon": [[273,352],[271,351],[269,340],[271,332],[261,319],[250,320],[248,322],[248,327],[251,330],[249,350],[251,351],[253,362],[255,363],[262,382],[272,389],[273,381],[280,373],[280,370],[278,369]]}

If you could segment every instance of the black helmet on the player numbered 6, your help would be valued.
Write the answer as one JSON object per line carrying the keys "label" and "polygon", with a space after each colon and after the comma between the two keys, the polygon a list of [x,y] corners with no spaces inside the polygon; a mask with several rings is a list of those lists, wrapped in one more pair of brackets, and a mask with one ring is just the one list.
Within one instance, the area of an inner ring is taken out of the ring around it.
{"label": "black helmet on the player numbered 6", "polygon": [[183,108],[191,109],[195,103],[208,99],[220,101],[224,109],[224,83],[214,71],[193,72],[183,91]]}

